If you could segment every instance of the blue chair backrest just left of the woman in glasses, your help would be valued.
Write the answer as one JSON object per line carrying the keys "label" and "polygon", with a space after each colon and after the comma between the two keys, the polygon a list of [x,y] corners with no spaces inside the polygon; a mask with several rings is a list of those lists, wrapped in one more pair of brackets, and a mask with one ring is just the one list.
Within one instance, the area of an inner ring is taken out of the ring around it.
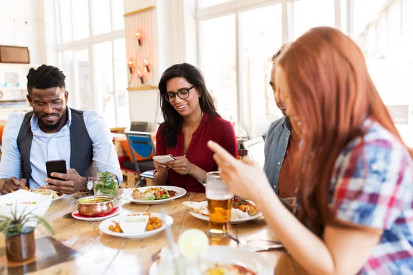
{"label": "blue chair backrest just left of the woman in glasses", "polygon": [[153,151],[156,152],[156,147],[153,144],[152,135],[149,132],[135,132],[126,131],[125,132],[127,143],[131,150],[131,155],[134,161],[134,166],[136,173],[138,173],[139,184],[142,184],[142,179],[140,177],[140,169],[134,152],[138,153],[142,157],[149,157]]}

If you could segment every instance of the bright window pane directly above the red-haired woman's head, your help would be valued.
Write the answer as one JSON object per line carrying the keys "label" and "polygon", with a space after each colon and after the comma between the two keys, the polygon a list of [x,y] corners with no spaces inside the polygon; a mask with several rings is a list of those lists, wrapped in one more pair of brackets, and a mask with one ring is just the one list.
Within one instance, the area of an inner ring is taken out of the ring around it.
{"label": "bright window pane directly above the red-haired woman's head", "polygon": [[297,0],[293,2],[293,37],[319,26],[335,26],[334,1]]}

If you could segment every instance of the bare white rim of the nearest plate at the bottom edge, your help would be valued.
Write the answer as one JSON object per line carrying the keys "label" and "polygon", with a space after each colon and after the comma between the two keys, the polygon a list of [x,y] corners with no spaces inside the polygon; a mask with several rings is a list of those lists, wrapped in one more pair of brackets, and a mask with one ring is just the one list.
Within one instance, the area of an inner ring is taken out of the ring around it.
{"label": "bare white rim of the nearest plate at the bottom edge", "polygon": [[[256,274],[273,275],[273,264],[263,258],[257,252],[250,252],[242,248],[231,248],[229,246],[214,245],[209,246],[204,255],[204,263],[234,264],[246,267]],[[153,262],[149,269],[149,275],[161,275],[158,270],[158,263]]]}

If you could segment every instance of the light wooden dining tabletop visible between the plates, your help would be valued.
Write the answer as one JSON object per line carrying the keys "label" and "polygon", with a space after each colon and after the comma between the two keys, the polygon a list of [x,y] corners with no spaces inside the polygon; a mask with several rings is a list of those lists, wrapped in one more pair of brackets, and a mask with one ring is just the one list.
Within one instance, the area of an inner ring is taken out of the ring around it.
{"label": "light wooden dining tabletop visible between the plates", "polygon": [[[171,203],[145,206],[120,199],[118,206],[121,206],[121,213],[160,212],[162,208],[165,208],[173,218],[172,232],[176,240],[180,232],[189,228],[207,230],[206,221],[195,219],[182,206],[183,201],[203,201],[204,199],[204,194],[187,193]],[[142,240],[122,239],[103,234],[98,229],[100,221],[88,222],[67,218],[71,217],[69,213],[76,208],[74,197],[68,195],[53,203],[44,217],[56,232],[54,239],[78,253],[72,257],[71,261],[59,262],[43,270],[37,267],[38,271],[32,274],[148,274],[152,264],[152,254],[167,245],[165,232]],[[36,239],[39,239],[47,236],[48,232],[39,225],[35,234]],[[277,239],[263,218],[241,225],[233,225],[233,235],[238,239]],[[229,239],[211,244],[237,246],[235,241]],[[2,236],[0,239],[0,274],[12,274],[8,269],[10,263],[6,260],[4,246]],[[39,253],[36,251],[36,257]],[[59,251],[57,253],[59,254]],[[284,250],[259,253],[273,263],[275,274],[301,274],[297,264]]]}

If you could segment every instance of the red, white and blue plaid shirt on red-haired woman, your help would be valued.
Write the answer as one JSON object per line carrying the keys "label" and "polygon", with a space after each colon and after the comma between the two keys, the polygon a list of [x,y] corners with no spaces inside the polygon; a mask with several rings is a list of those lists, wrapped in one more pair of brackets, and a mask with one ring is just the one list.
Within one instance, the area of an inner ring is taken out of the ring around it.
{"label": "red, white and blue plaid shirt on red-haired woman", "polygon": [[383,231],[359,274],[413,274],[413,162],[379,123],[341,152],[330,186],[330,208],[342,221]]}

